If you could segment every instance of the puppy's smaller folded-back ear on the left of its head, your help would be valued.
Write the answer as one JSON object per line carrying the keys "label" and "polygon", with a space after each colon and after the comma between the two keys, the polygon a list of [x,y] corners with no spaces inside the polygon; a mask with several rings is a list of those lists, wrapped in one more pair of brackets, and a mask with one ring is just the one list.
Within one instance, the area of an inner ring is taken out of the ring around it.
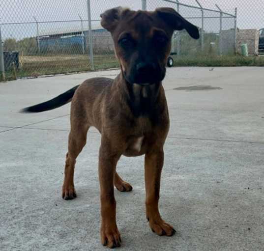
{"label": "puppy's smaller folded-back ear on the left of its head", "polygon": [[118,22],[121,19],[121,16],[124,11],[129,10],[128,8],[116,7],[113,9],[106,10],[104,13],[100,15],[101,26],[108,31],[112,32],[117,27]]}

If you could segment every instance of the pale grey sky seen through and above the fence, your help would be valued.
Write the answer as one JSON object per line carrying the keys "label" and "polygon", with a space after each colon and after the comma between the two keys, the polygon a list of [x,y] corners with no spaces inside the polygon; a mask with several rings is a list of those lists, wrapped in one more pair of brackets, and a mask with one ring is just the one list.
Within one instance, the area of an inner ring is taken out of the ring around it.
{"label": "pale grey sky seen through and above the fence", "polygon": [[[195,0],[179,0],[184,4],[198,6]],[[238,28],[264,28],[264,0],[199,0],[205,8],[216,9],[215,3],[225,12],[234,14],[237,7]],[[131,9],[140,9],[141,0],[90,0],[91,17],[99,20],[100,14],[109,8],[127,6]],[[164,0],[147,0],[147,9],[154,10],[156,7],[175,7],[176,3]],[[201,11],[180,6],[180,14],[184,17],[200,17]],[[58,23],[40,23],[40,33],[56,33],[62,28],[81,28],[79,15],[87,20],[87,0],[0,0],[0,22],[3,39],[13,37],[21,39],[28,36],[36,36],[36,24],[6,24],[20,22],[44,21],[74,21]],[[205,11],[205,17],[219,17],[219,13]],[[225,17],[225,16],[224,16]],[[190,22],[201,27],[201,19],[189,19]],[[98,28],[99,21],[92,22],[93,27]],[[218,32],[220,19],[205,19],[205,30]],[[223,19],[223,29],[234,28],[234,19]],[[88,29],[88,22],[84,22],[84,29]]]}

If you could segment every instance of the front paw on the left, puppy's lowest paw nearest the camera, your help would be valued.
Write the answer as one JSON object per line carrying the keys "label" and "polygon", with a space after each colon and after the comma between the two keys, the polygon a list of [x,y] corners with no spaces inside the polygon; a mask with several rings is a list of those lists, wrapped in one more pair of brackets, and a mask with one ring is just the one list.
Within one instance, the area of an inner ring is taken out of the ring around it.
{"label": "front paw on the left, puppy's lowest paw nearest the camera", "polygon": [[109,227],[101,228],[101,242],[103,246],[114,249],[121,246],[121,237],[117,227],[109,229]]}

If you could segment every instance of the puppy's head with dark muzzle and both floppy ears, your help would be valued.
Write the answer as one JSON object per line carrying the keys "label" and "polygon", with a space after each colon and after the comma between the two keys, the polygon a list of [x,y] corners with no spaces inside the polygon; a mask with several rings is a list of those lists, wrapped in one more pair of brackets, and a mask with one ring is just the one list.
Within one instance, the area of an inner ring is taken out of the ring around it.
{"label": "puppy's head with dark muzzle and both floppy ears", "polygon": [[155,84],[165,77],[174,30],[199,30],[172,8],[132,11],[122,7],[101,14],[101,25],[111,32],[124,78],[130,84]]}

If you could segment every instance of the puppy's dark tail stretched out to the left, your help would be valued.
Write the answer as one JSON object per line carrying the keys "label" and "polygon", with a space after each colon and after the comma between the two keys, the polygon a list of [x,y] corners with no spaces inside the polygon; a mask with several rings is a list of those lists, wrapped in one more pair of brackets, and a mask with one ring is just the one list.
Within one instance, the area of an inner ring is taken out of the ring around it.
{"label": "puppy's dark tail stretched out to the left", "polygon": [[66,92],[60,94],[56,98],[53,98],[51,100],[48,100],[46,102],[34,106],[26,107],[22,109],[20,112],[44,112],[63,106],[71,102],[74,92],[78,87],[79,85],[76,85],[73,88],[67,90]]}

